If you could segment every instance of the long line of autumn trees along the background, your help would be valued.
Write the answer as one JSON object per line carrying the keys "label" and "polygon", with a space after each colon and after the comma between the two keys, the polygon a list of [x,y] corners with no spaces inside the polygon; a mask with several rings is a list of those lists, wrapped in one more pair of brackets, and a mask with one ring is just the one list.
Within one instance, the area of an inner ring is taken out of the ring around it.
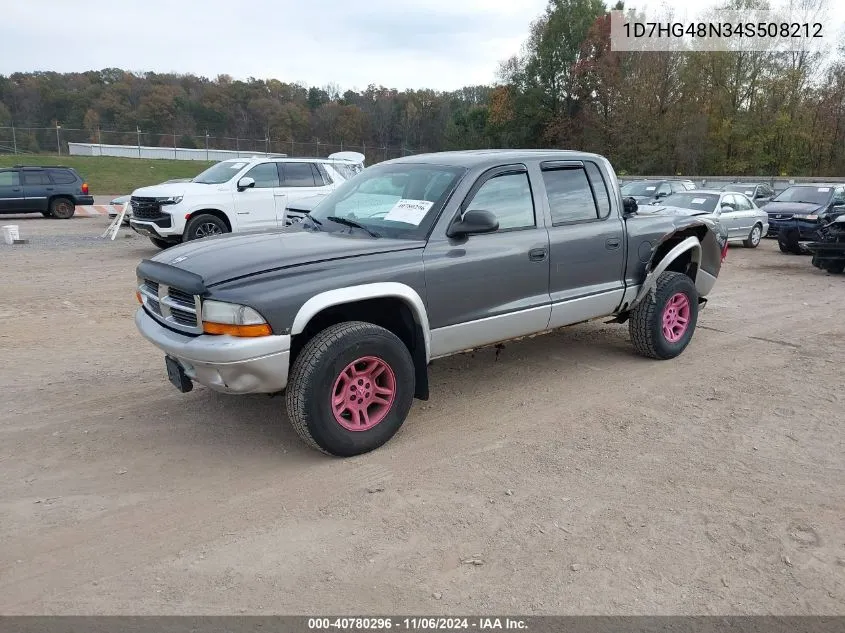
{"label": "long line of autumn trees along the background", "polygon": [[[764,0],[723,6],[766,8]],[[111,141],[124,143],[142,129],[161,145],[188,147],[208,134],[403,152],[571,148],[604,154],[631,174],[842,175],[843,115],[842,48],[618,52],[602,0],[549,0],[494,84],[450,92],[375,84],[341,92],[116,68],[0,76],[0,128],[60,122],[91,142],[100,130],[126,131]],[[51,151],[55,135],[23,133],[16,143]]]}

